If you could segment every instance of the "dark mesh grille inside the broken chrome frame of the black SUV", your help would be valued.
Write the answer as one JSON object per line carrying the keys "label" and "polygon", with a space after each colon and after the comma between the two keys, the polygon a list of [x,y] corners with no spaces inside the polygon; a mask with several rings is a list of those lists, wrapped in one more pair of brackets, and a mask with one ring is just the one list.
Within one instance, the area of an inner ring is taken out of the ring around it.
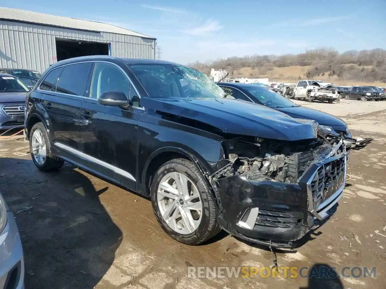
{"label": "dark mesh grille inside the broken chrome frame of the black SUV", "polygon": [[322,165],[311,181],[312,198],[314,207],[331,197],[339,189],[339,178],[344,177],[344,157]]}

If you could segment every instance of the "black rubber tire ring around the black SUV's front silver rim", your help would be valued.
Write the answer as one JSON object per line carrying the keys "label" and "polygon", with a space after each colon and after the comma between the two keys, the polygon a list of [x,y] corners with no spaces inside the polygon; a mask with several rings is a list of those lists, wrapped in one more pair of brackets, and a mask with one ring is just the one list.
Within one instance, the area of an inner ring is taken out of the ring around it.
{"label": "black rubber tire ring around the black SUV's front silver rim", "polygon": [[[183,173],[188,176],[188,178],[197,186],[198,192],[200,194],[202,203],[201,222],[198,228],[190,234],[182,235],[171,229],[162,217],[158,207],[157,188],[162,178],[166,174],[171,172]],[[154,175],[154,179],[150,187],[152,207],[154,213],[158,222],[161,223],[163,230],[168,233],[173,239],[178,240],[179,242],[195,243],[196,240],[199,240],[204,237],[204,235],[207,233],[208,227],[210,226],[210,210],[208,203],[208,195],[210,194],[210,192],[208,192],[207,185],[203,183],[203,181],[204,180],[202,176],[196,176],[196,174],[190,168],[187,168],[186,166],[178,163],[165,164],[161,168],[159,168],[157,173]],[[211,196],[209,195],[209,197]]]}

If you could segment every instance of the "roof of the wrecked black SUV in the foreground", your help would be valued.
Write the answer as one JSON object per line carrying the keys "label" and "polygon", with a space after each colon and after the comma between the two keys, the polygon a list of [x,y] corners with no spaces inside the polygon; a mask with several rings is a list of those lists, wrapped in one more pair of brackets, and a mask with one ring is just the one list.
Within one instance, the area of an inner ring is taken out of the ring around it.
{"label": "roof of the wrecked black SUV in the foreground", "polygon": [[76,63],[80,61],[97,61],[97,60],[110,60],[112,62],[122,62],[129,65],[136,65],[136,64],[176,64],[174,62],[169,62],[165,60],[157,60],[157,59],[139,59],[139,58],[124,58],[124,57],[113,57],[109,55],[90,55],[90,56],[80,56],[80,57],[74,57],[69,59],[64,59],[56,62],[49,68],[53,69],[58,66],[62,66],[65,64],[71,64]]}

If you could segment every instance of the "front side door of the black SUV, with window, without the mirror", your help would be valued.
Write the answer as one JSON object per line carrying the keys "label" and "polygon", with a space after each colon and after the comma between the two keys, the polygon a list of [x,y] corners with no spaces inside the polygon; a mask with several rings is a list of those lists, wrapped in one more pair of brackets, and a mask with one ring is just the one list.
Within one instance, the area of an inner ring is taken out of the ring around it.
{"label": "front side door of the black SUV, with window, without the mirror", "polygon": [[105,91],[122,91],[129,99],[130,90],[134,87],[119,66],[95,62],[90,94],[81,106],[80,135],[88,166],[135,190],[138,120],[143,110],[98,103]]}

